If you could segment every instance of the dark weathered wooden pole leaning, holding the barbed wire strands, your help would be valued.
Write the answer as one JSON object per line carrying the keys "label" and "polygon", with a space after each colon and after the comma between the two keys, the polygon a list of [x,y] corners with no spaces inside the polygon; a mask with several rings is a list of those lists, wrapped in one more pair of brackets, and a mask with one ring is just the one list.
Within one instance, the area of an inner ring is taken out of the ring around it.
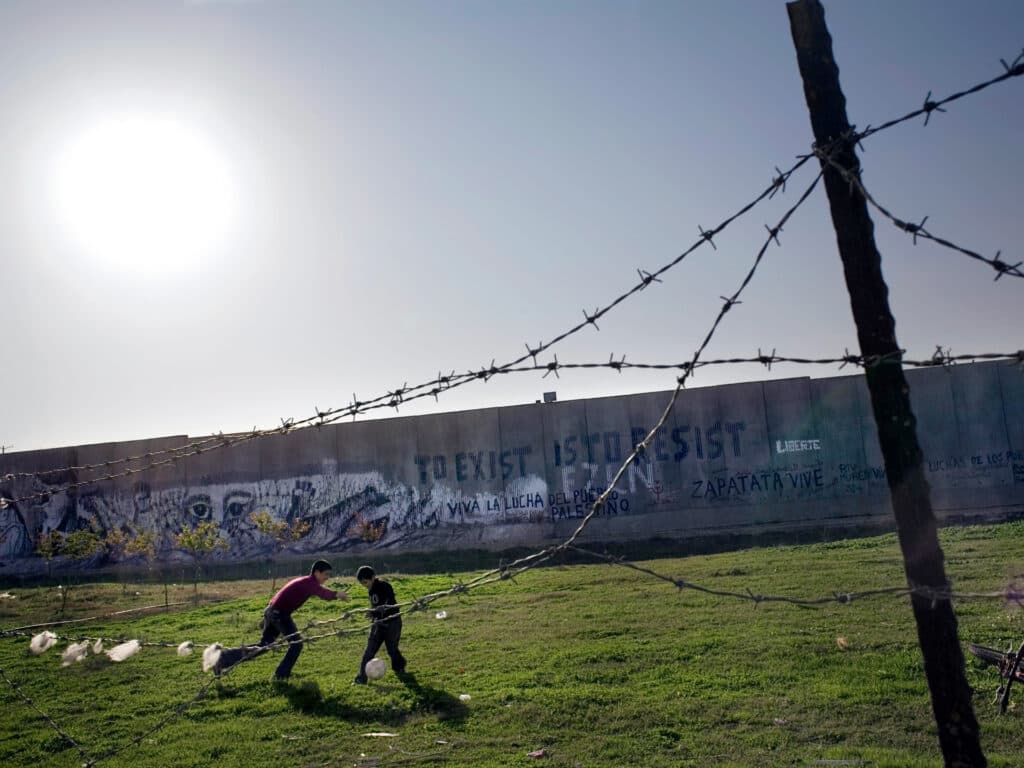
{"label": "dark weathered wooden pole leaning, holding the barbed wire strands", "polygon": [[[824,9],[819,0],[796,0],[786,3],[786,11],[815,143],[818,147],[835,146],[833,161],[845,172],[859,176]],[[874,246],[874,227],[863,197],[825,159],[821,165],[860,353],[880,360],[866,366],[864,375],[885,459],[903,568],[911,588],[941,594],[948,590],[944,557],[910,409],[910,390],[900,362],[896,324],[889,309],[889,288]],[[945,764],[984,766],[952,603],[946,597],[915,593],[910,604]]]}

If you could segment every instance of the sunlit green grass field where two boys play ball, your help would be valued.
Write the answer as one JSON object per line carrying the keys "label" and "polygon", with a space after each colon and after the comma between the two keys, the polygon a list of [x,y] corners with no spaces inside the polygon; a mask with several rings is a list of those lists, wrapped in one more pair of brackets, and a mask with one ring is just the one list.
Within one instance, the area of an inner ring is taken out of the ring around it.
{"label": "sunlit green grass field where two boys play ball", "polygon": [[[1024,560],[1021,523],[947,528],[942,541],[957,592],[999,590]],[[794,597],[905,583],[892,536],[644,565],[714,589]],[[472,575],[389,578],[408,600]],[[69,637],[251,642],[269,588],[268,581],[201,585],[202,597],[219,602],[54,629]],[[52,588],[11,592],[14,599],[0,600],[4,629],[51,621],[59,607]],[[351,594],[347,605],[310,600],[296,613],[299,626],[366,604],[358,585]],[[127,593],[81,586],[62,617],[163,599],[154,586]],[[1006,648],[1024,637],[1020,609],[999,600],[959,600],[955,608],[965,644]],[[447,618],[435,618],[441,609]],[[354,618],[334,625],[356,626]],[[556,565],[407,616],[404,681],[388,673],[353,686],[364,640],[351,634],[308,644],[284,686],[269,680],[276,653],[210,684],[198,652],[182,658],[173,648],[143,647],[121,664],[90,656],[62,669],[67,643],[32,656],[23,636],[0,638],[0,668],[88,758],[167,720],[98,763],[112,767],[942,764],[905,597],[755,605],[621,566]],[[989,765],[1024,764],[1024,705],[1000,716],[991,705],[994,670],[969,657],[968,676]],[[85,763],[22,693],[0,679],[0,765]],[[1024,687],[1015,696],[1022,697]],[[539,750],[544,757],[528,757]]]}

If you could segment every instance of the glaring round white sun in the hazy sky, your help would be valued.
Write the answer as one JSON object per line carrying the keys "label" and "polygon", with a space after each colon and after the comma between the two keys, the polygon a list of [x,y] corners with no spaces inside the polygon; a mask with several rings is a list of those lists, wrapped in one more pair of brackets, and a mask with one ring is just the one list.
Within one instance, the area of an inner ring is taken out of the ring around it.
{"label": "glaring round white sun in the hazy sky", "polygon": [[155,116],[100,121],[70,141],[58,157],[56,201],[74,247],[143,273],[196,266],[224,243],[234,216],[216,147]]}

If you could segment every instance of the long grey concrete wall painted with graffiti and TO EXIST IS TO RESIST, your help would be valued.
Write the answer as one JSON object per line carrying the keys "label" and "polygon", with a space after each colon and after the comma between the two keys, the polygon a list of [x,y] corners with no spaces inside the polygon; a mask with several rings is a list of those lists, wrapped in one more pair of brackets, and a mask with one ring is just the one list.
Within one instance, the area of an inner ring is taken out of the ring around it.
{"label": "long grey concrete wall painted with graffiti and TO EXIST IS TO RESIST", "polygon": [[[940,519],[1024,513],[1024,374],[1005,361],[907,372]],[[38,564],[40,532],[87,525],[157,535],[176,559],[183,527],[215,521],[230,558],[272,550],[250,514],[301,519],[289,551],[542,546],[579,525],[669,392],[385,419],[205,452],[116,480],[124,466],[0,481],[5,564]],[[185,436],[0,458],[0,474],[81,467]],[[620,480],[584,541],[885,527],[892,512],[862,376],[683,392],[647,456]]]}

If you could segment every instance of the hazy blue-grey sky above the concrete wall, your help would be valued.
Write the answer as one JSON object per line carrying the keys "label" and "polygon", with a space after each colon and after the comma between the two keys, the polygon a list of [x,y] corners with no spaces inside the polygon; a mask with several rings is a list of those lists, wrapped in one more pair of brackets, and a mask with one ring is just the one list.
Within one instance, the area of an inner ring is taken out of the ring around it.
{"label": "hazy blue-grey sky above the concrete wall", "polygon": [[[861,127],[1024,48],[1020,0],[825,11]],[[811,142],[775,0],[3,0],[0,72],[7,451],[272,427],[506,362]],[[923,123],[864,142],[868,189],[937,236],[1024,258],[1024,78]],[[689,359],[813,173],[553,353]],[[910,357],[1024,347],[1024,281],[874,219]],[[856,350],[822,188],[780,240],[708,356]],[[717,367],[691,386],[837,373]],[[516,374],[399,413],[674,384]]]}

